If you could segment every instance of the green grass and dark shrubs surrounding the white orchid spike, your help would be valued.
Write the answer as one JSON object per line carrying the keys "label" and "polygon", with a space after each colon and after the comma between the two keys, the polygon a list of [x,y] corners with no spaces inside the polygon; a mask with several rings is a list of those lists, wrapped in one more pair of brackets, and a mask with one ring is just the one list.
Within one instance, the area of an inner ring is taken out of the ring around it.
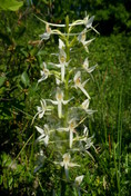
{"label": "green grass and dark shrubs surrounding the white orchid spike", "polygon": [[[59,171],[49,163],[33,174],[38,147],[33,145],[37,134],[31,120],[40,98],[48,95],[54,81],[36,84],[40,65],[51,59],[58,45],[57,37],[39,45],[44,24],[34,14],[54,23],[64,22],[67,14],[70,22],[85,14],[95,16],[93,26],[100,36],[92,32],[95,40],[88,57],[90,65],[99,65],[89,87],[91,106],[98,112],[87,124],[99,154],[93,155],[95,163],[83,158],[83,189],[89,196],[129,196],[131,0],[0,0],[1,195],[51,195],[59,182]],[[80,53],[77,61],[85,57]],[[56,180],[53,174],[58,175]]]}

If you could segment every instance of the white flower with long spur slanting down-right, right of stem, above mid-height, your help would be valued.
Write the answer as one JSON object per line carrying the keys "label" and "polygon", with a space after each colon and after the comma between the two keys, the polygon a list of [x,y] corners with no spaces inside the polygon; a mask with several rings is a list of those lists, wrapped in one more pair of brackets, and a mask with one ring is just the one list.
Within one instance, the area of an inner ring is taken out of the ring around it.
{"label": "white flower with long spur slanting down-right, right of stem, above mid-height", "polygon": [[90,99],[89,94],[84,89],[84,85],[89,81],[89,79],[85,80],[83,84],[81,84],[81,72],[78,71],[73,78],[73,81],[74,81],[74,87],[80,88],[80,90],[88,97],[88,99]]}

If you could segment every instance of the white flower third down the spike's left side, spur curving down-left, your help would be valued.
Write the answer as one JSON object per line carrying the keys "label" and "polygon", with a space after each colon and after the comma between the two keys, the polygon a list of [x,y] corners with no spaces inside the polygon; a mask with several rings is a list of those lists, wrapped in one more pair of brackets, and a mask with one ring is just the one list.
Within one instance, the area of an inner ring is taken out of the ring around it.
{"label": "white flower third down the spike's left side, spur curving down-left", "polygon": [[44,99],[40,100],[41,106],[37,106],[38,112],[34,115],[32,122],[34,121],[36,117],[39,116],[39,118],[42,118],[46,111],[51,111],[51,108],[47,106],[47,102]]}

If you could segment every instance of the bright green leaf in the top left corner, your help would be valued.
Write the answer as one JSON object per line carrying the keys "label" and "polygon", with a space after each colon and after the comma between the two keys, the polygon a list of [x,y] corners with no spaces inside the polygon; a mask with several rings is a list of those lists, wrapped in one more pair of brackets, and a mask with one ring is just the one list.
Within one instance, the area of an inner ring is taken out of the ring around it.
{"label": "bright green leaf in the top left corner", "polygon": [[17,11],[22,6],[23,2],[18,2],[17,0],[0,0],[0,10]]}

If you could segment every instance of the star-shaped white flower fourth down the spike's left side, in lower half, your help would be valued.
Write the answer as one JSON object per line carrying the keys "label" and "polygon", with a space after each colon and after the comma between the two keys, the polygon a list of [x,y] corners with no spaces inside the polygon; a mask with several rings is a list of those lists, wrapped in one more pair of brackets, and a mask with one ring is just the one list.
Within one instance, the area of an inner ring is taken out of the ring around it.
{"label": "star-shaped white flower fourth down the spike's left side, in lower half", "polygon": [[43,141],[43,144],[46,146],[48,146],[48,143],[49,143],[49,127],[48,125],[44,125],[44,129],[36,126],[37,130],[41,134],[41,136],[38,137],[38,139],[36,141]]}

